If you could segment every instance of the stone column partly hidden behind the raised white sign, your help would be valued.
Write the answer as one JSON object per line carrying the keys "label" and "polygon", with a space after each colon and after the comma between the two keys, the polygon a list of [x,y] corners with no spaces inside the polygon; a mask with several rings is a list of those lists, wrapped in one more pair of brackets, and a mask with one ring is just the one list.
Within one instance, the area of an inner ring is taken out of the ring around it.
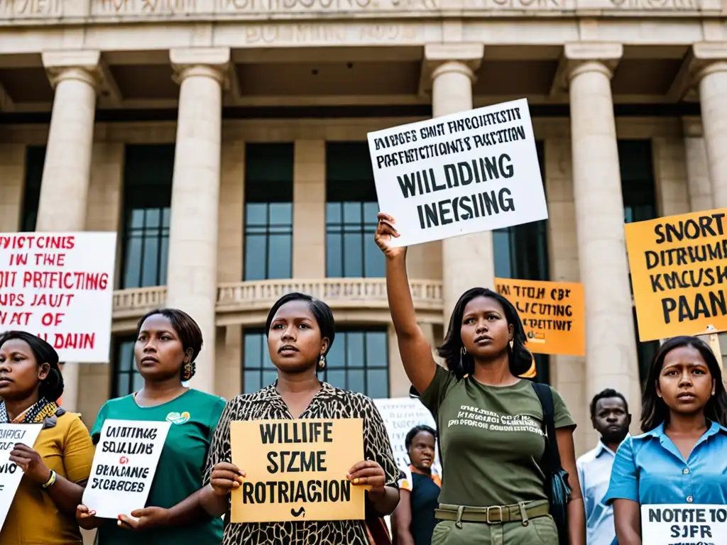
{"label": "stone column partly hidden behind the raised white sign", "polygon": [[[434,117],[471,110],[472,84],[484,53],[482,44],[429,44],[425,69],[432,81]],[[492,233],[474,233],[442,241],[444,327],[457,299],[475,286],[494,287]]]}

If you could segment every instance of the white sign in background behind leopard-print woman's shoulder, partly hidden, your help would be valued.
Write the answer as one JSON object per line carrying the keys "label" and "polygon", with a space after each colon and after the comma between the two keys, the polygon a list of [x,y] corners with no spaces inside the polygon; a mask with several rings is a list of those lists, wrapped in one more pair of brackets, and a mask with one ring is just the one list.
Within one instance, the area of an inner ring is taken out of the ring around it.
{"label": "white sign in background behind leopard-print woman's shoulder, partly hidden", "polygon": [[[422,402],[411,397],[393,397],[384,399],[375,399],[374,405],[379,409],[381,417],[386,426],[386,432],[391,443],[391,450],[394,453],[396,465],[400,469],[409,467],[409,453],[406,452],[404,440],[406,434],[414,426],[426,424],[427,426],[437,429],[437,423],[429,410],[422,405]],[[434,464],[439,467],[439,452],[435,448]]]}

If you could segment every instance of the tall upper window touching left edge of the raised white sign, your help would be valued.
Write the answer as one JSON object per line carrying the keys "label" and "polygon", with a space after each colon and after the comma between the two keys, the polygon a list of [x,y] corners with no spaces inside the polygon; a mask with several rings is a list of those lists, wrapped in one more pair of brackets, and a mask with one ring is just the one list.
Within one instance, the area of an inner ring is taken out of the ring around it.
{"label": "tall upper window touching left edge of the raised white sign", "polygon": [[374,242],[379,205],[366,142],[326,143],[326,276],[383,276]]}

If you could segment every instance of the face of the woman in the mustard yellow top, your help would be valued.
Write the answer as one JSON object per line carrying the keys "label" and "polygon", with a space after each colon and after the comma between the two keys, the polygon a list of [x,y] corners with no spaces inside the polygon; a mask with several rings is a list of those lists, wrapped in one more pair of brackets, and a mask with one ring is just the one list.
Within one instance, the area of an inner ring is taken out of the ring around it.
{"label": "face of the woman in the mustard yellow top", "polygon": [[0,397],[7,400],[31,397],[49,371],[48,363],[38,365],[27,342],[10,339],[0,347]]}

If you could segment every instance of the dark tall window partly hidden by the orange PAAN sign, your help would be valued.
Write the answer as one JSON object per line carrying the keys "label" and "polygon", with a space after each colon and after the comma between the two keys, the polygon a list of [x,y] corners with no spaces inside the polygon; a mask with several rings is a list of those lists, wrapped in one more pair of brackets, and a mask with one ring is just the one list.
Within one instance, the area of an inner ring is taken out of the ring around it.
{"label": "dark tall window partly hidden by the orange PAAN sign", "polygon": [[[624,199],[624,222],[643,222],[654,219],[656,214],[656,180],[651,151],[651,140],[619,140],[619,166],[621,167],[621,191]],[[636,353],[638,355],[641,387],[646,382],[648,366],[659,341],[640,342],[638,323],[634,311]]]}

